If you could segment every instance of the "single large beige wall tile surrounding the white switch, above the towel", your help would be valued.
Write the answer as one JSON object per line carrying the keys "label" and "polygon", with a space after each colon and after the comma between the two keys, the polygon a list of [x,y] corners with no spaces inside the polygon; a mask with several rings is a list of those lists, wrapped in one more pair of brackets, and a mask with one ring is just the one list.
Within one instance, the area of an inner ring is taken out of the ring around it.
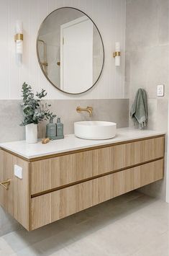
{"label": "single large beige wall tile surrounding the white switch, above the towel", "polygon": [[157,84],[165,84],[164,98],[168,98],[169,45],[128,51],[126,57],[125,81],[129,99],[134,99],[140,87],[147,91],[148,98],[157,98]]}

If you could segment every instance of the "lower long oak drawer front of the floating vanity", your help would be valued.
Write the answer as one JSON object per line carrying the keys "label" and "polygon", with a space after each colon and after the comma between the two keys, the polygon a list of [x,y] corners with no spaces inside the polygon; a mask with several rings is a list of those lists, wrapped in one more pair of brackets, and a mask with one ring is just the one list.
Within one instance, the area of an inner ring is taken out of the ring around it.
{"label": "lower long oak drawer front of the floating vanity", "polygon": [[32,229],[163,178],[163,159],[32,198]]}

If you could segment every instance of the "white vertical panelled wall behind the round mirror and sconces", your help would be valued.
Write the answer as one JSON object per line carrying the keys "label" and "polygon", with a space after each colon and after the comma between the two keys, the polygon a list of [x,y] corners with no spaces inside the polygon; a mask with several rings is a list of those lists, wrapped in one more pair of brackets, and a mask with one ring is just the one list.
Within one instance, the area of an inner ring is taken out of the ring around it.
{"label": "white vertical panelled wall behind the round mirror and sconces", "polygon": [[[36,37],[42,20],[53,10],[72,6],[86,12],[96,23],[104,41],[104,71],[93,89],[86,94],[70,96],[52,87],[37,62]],[[124,54],[122,65],[114,66],[114,43],[125,47],[125,0],[6,0],[0,1],[0,100],[19,99],[24,81],[37,91],[44,88],[48,99],[116,99],[124,97]],[[22,67],[15,62],[14,26],[21,19],[24,26]]]}

